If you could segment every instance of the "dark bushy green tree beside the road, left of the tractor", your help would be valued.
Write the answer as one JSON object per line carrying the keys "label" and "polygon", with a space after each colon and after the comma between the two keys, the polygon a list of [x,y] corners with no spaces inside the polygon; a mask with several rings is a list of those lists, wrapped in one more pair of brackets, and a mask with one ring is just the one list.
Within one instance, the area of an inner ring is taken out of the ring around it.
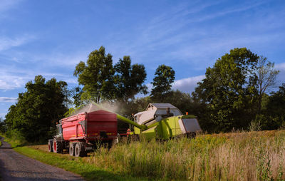
{"label": "dark bushy green tree beside the road, left of the tractor", "polygon": [[63,118],[68,110],[67,83],[46,81],[43,76],[36,76],[34,82],[26,83],[26,92],[19,93],[18,103],[11,105],[5,116],[9,133],[21,133],[27,141],[45,140],[50,128]]}

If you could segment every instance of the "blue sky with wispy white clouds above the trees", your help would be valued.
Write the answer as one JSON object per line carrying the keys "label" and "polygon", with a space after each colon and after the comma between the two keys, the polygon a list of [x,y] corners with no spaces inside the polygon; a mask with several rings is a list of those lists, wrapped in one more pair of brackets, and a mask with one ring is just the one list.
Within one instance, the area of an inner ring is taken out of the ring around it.
{"label": "blue sky with wispy white clouds above the trees", "polygon": [[172,88],[191,93],[232,48],[266,56],[285,82],[285,1],[0,0],[0,117],[37,75],[78,86],[79,61],[104,46],[113,63],[175,70]]}

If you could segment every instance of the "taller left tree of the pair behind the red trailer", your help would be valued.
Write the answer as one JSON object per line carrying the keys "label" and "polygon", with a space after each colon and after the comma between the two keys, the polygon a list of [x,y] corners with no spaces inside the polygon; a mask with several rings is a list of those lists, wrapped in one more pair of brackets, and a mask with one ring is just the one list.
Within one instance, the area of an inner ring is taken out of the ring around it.
{"label": "taller left tree of the pair behind the red trailer", "polygon": [[103,46],[99,50],[92,51],[86,63],[83,61],[78,63],[73,75],[78,77],[79,85],[83,86],[81,98],[96,103],[114,98],[113,60],[110,53],[105,54]]}

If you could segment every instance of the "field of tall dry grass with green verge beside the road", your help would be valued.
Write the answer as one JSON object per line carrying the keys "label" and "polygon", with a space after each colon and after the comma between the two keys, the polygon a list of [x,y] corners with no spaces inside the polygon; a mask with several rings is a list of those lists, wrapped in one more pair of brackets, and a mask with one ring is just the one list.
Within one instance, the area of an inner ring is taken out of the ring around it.
{"label": "field of tall dry grass with green verge beside the road", "polygon": [[[162,142],[125,140],[110,150],[100,148],[82,158],[49,153],[46,145],[19,147],[16,151],[88,180],[104,180],[108,175],[113,175],[112,180],[284,180],[284,148],[285,131],[272,130]],[[80,172],[79,167],[74,171],[76,164],[96,171]]]}

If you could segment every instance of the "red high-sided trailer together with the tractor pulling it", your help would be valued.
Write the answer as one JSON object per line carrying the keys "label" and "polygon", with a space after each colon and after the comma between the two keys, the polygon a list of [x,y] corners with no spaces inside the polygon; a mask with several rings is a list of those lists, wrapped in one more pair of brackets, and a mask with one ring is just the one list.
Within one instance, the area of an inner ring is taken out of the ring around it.
{"label": "red high-sided trailer together with the tractor pulling it", "polygon": [[112,145],[118,138],[117,115],[106,110],[79,113],[60,120],[58,135],[48,140],[50,152],[69,149],[70,155],[84,156],[101,143]]}

